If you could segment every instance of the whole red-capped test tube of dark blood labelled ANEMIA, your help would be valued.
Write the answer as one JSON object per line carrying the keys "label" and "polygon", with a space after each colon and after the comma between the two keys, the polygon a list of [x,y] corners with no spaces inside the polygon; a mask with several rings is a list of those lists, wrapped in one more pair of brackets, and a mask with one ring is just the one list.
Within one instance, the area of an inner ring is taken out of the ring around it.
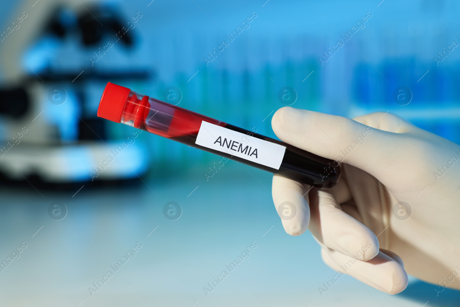
{"label": "whole red-capped test tube of dark blood labelled ANEMIA", "polygon": [[282,141],[107,83],[98,116],[317,188],[339,180],[337,162]]}

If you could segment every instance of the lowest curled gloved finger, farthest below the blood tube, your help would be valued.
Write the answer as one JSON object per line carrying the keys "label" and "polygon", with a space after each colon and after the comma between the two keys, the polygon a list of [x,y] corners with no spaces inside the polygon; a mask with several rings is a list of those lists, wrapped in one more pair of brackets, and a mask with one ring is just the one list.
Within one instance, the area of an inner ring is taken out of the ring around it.
{"label": "lowest curled gloved finger, farthest below the blood tube", "polygon": [[407,287],[406,271],[383,252],[369,261],[358,260],[324,248],[321,249],[321,256],[323,261],[337,272],[348,274],[380,291],[397,294]]}

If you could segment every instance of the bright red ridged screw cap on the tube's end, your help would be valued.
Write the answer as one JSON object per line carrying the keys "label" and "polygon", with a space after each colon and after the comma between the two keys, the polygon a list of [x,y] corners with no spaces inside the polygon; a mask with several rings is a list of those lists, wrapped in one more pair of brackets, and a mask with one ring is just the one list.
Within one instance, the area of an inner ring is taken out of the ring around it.
{"label": "bright red ridged screw cap on the tube's end", "polygon": [[121,113],[131,90],[113,83],[107,83],[99,102],[98,117],[120,122]]}

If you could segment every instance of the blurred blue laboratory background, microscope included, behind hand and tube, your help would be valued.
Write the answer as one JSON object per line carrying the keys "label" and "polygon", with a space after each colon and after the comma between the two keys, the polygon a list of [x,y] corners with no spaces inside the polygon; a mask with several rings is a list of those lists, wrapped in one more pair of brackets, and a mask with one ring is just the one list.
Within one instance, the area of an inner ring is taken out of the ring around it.
{"label": "blurred blue laboratory background, microscope included, behind hand and tube", "polygon": [[292,105],[388,111],[460,143],[457,1],[0,6],[0,260],[27,245],[0,266],[1,306],[460,306],[415,278],[398,295],[347,276],[321,293],[335,272],[309,233],[284,232],[271,174],[97,117],[110,81],[275,138]]}

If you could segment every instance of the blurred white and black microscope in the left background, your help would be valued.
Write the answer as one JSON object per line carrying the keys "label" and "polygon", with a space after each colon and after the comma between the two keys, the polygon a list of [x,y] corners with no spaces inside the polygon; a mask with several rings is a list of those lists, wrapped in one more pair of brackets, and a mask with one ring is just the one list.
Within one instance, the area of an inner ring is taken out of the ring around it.
{"label": "blurred white and black microscope in the left background", "polygon": [[[111,135],[109,123],[97,117],[108,81],[145,83],[152,76],[132,55],[142,14],[125,15],[110,1],[25,0],[2,25],[4,181],[113,182],[146,173],[149,155],[140,138]],[[129,146],[102,169],[124,143]]]}

